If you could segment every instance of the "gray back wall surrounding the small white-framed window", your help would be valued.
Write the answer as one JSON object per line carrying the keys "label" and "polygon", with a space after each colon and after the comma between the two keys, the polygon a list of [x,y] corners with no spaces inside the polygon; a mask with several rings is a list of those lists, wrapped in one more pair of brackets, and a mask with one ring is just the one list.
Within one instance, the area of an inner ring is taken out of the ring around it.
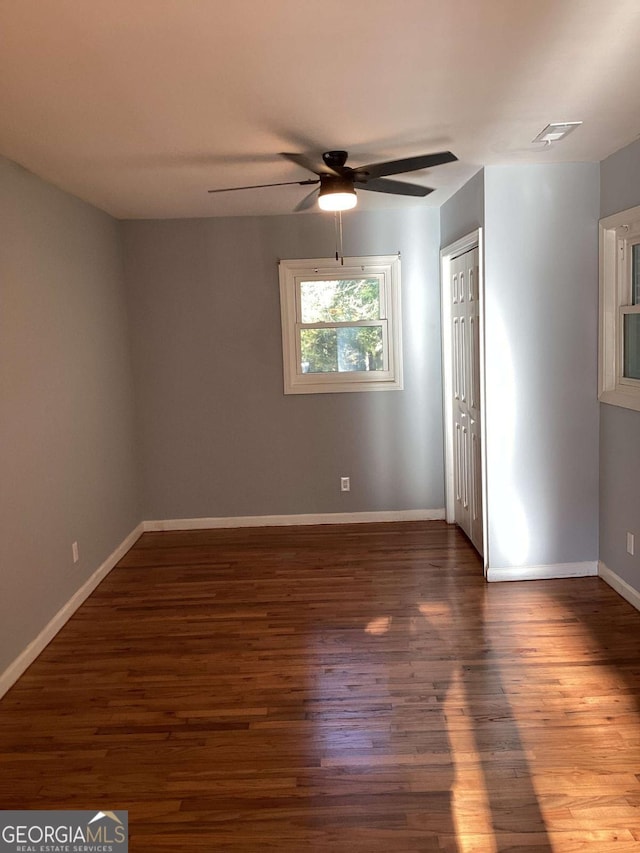
{"label": "gray back wall surrounding the small white-framed window", "polygon": [[344,216],[345,255],[402,253],[405,390],[285,396],[277,261],[332,257],[333,218],[125,223],[143,517],[441,508],[439,237]]}

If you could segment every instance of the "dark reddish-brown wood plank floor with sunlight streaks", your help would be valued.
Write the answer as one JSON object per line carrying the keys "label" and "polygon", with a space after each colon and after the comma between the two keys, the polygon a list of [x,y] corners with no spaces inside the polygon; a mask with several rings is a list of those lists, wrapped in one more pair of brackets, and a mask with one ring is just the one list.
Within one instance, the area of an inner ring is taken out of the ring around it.
{"label": "dark reddish-brown wood plank floor with sunlight streaks", "polygon": [[441,522],[147,533],[0,702],[0,807],[134,853],[640,850],[640,614]]}

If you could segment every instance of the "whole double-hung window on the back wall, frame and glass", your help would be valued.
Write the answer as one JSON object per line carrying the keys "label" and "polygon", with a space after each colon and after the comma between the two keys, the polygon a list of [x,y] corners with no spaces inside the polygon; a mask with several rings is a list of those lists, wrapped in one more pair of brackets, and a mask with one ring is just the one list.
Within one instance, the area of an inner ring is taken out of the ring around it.
{"label": "whole double-hung window on the back wall, frame and glass", "polygon": [[400,258],[282,260],[285,394],[402,389]]}

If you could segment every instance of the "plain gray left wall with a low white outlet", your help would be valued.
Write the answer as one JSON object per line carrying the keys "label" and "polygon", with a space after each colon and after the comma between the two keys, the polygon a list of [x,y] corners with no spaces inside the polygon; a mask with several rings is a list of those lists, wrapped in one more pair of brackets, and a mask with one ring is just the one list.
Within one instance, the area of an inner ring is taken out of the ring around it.
{"label": "plain gray left wall with a low white outlet", "polygon": [[119,225],[0,159],[0,235],[2,672],[140,517]]}

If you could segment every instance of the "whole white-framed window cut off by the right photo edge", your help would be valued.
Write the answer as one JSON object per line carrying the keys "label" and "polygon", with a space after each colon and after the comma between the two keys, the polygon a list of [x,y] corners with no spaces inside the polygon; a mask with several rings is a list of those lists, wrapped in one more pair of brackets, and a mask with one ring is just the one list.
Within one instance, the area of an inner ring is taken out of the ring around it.
{"label": "whole white-framed window cut off by the right photo edge", "polygon": [[640,207],[600,220],[598,399],[640,411]]}

